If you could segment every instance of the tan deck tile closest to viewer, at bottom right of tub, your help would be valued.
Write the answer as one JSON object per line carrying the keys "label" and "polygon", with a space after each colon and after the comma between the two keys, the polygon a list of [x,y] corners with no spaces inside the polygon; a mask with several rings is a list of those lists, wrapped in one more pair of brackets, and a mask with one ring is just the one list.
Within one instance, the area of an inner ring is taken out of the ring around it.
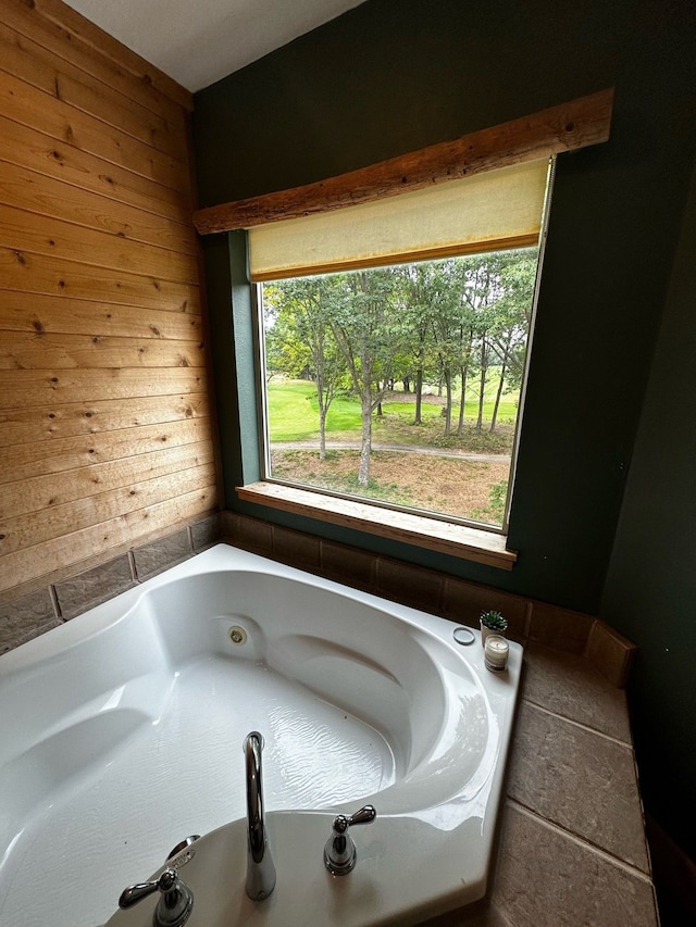
{"label": "tan deck tile closest to viewer, at bottom right of tub", "polygon": [[514,927],[657,927],[652,886],[507,803],[492,901]]}

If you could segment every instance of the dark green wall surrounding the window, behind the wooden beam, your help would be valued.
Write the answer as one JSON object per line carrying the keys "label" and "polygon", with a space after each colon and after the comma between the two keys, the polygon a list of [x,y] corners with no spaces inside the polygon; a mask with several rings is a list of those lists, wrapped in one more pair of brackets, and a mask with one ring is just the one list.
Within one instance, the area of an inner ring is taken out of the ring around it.
{"label": "dark green wall surrounding the window, behind the wooden beam", "polygon": [[[649,453],[663,440],[645,424],[652,380],[647,398],[646,390],[696,143],[693,11],[689,0],[369,0],[201,91],[195,112],[201,205],[211,205],[310,183],[616,86],[609,142],[559,159],[510,519],[510,546],[520,553],[514,569],[263,514],[592,614],[611,563],[605,615],[610,622],[616,615],[618,627],[647,644],[635,690],[643,742],[649,728],[662,725],[672,746],[678,728],[670,728],[670,706],[680,710],[680,685],[693,697],[693,682],[686,661],[658,655],[655,636],[643,629],[663,621],[662,601],[673,610],[671,631],[693,627],[692,590],[664,555],[655,564],[664,600],[660,593],[635,611],[617,604],[633,602],[632,584],[647,581],[645,559],[634,559],[624,537],[634,523],[648,524],[649,506],[641,501],[646,479],[632,484],[613,560],[611,552],[642,415]],[[228,271],[221,268],[226,242],[220,242],[204,246],[221,342],[216,388],[234,396],[234,355],[223,343],[231,317]],[[681,384],[693,396],[682,366],[672,374],[672,389]],[[227,503],[252,512],[232,492],[241,461],[233,419],[223,433]],[[695,428],[684,410],[670,453],[682,453]],[[641,453],[645,460],[643,443]],[[657,504],[671,491],[666,487]],[[693,512],[686,481],[680,497]],[[666,505],[666,515],[673,508]],[[694,538],[683,522],[674,541],[693,573]],[[646,687],[672,673],[664,699],[647,712]],[[693,781],[693,742],[670,756]]]}

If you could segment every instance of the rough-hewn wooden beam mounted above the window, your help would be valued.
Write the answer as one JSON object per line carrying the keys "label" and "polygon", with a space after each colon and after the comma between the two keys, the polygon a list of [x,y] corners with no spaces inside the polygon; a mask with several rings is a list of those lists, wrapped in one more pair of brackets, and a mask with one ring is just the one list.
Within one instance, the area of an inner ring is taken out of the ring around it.
{"label": "rough-hewn wooden beam mounted above the window", "polygon": [[613,88],[314,184],[198,210],[201,235],[374,202],[609,138]]}

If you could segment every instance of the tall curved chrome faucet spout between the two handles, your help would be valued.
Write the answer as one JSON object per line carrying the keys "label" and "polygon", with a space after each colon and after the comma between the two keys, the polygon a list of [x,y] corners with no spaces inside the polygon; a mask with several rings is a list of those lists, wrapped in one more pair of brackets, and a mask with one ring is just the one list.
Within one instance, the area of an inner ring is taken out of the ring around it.
{"label": "tall curved chrome faucet spout between the two handles", "polygon": [[262,901],[275,888],[275,866],[265,831],[261,751],[263,738],[258,730],[247,735],[247,894]]}

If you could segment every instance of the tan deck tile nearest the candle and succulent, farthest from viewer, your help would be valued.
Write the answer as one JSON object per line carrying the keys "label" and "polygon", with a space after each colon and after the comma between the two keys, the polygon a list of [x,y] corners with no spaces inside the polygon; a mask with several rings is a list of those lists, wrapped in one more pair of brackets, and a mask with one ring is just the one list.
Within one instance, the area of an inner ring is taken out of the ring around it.
{"label": "tan deck tile nearest the candle and succulent, farthest from viewer", "polygon": [[625,692],[584,656],[527,643],[521,694],[550,712],[631,743]]}

